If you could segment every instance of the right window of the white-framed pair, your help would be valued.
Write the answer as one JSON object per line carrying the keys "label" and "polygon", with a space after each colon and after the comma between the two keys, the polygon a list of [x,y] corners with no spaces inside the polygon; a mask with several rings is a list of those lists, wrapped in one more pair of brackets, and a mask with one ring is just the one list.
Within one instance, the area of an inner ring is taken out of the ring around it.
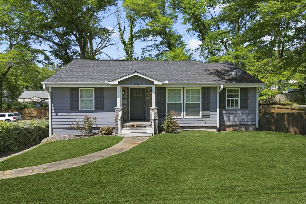
{"label": "right window of the white-framed pair", "polygon": [[185,117],[201,117],[201,87],[185,88]]}

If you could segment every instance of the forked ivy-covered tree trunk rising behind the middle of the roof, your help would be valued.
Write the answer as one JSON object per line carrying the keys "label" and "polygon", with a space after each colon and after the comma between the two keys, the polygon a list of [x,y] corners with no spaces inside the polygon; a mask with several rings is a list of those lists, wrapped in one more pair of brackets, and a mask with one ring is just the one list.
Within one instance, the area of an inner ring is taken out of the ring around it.
{"label": "forked ivy-covered tree trunk rising behind the middle of the roof", "polygon": [[137,19],[136,17],[130,15],[128,12],[125,13],[125,17],[126,20],[128,21],[129,24],[129,36],[128,36],[128,40],[125,40],[125,24],[123,26],[121,26],[121,22],[120,22],[120,16],[117,15],[117,22],[118,22],[118,31],[119,31],[119,36],[120,36],[120,40],[121,43],[123,45],[123,50],[125,51],[125,59],[126,60],[133,60],[133,54],[134,54],[134,39],[135,39],[135,33],[134,33],[134,29],[137,23]]}

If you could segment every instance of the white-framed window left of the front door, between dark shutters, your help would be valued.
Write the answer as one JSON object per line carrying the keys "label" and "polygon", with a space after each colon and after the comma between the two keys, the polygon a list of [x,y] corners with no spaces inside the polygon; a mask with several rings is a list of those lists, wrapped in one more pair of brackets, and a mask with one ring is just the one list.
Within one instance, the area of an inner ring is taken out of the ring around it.
{"label": "white-framed window left of the front door, between dark shutters", "polygon": [[80,110],[94,110],[94,89],[79,88]]}

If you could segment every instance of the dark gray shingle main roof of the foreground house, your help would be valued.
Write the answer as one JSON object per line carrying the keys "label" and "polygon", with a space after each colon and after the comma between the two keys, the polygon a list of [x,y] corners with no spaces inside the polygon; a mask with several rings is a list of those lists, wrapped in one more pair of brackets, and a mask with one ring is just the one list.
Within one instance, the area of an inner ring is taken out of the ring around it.
{"label": "dark gray shingle main roof of the foreground house", "polygon": [[235,82],[226,76],[233,69],[231,63],[201,61],[73,60],[43,83],[104,83],[133,72],[169,83],[263,83],[245,71]]}

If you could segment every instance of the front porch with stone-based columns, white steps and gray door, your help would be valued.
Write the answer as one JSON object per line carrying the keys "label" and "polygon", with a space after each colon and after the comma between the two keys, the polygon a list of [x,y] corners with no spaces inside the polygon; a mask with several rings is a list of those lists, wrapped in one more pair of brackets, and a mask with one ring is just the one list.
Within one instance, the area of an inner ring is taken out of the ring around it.
{"label": "front porch with stone-based columns, white steps and gray door", "polygon": [[155,85],[117,86],[115,134],[124,137],[157,134]]}

